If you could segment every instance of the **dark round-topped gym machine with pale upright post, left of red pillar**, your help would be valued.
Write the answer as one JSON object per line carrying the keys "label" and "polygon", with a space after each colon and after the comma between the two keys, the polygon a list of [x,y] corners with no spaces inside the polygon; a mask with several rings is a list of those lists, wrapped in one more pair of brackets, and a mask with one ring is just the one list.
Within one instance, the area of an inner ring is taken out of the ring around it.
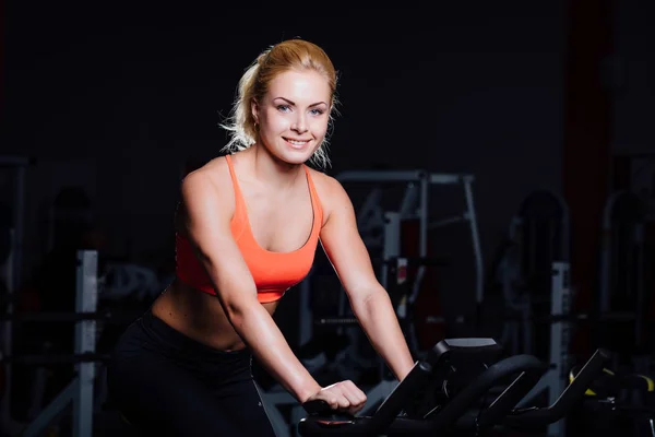
{"label": "dark round-topped gym machine with pale upright post, left of red pillar", "polygon": [[[512,220],[511,245],[499,265],[503,303],[509,310],[505,316],[513,314],[517,318],[503,324],[501,343],[513,354],[537,354],[550,364],[525,402],[547,392],[548,402],[552,403],[567,386],[572,321],[568,211],[563,199],[556,193],[539,190],[528,194]],[[549,329],[539,330],[539,334],[547,335],[538,343],[549,347],[536,351],[535,316],[544,312],[550,319]],[[548,435],[563,436],[564,429],[564,421],[560,421],[549,426]]]}

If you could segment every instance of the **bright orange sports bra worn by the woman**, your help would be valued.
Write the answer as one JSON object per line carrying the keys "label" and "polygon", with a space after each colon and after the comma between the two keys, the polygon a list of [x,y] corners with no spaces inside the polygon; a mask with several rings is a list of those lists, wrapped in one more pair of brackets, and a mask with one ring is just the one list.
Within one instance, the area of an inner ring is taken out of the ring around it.
{"label": "bright orange sports bra worn by the woman", "polygon": [[[239,189],[231,158],[225,156],[235,190],[235,213],[230,228],[237,246],[246,260],[246,264],[254,279],[260,303],[279,299],[284,293],[307,276],[313,263],[319,234],[323,223],[323,210],[319,202],[317,190],[305,167],[307,185],[313,210],[313,226],[305,245],[291,252],[272,252],[263,249],[254,239],[246,203]],[[210,294],[216,294],[209,275],[195,257],[190,241],[182,235],[176,234],[176,274],[184,283]]]}

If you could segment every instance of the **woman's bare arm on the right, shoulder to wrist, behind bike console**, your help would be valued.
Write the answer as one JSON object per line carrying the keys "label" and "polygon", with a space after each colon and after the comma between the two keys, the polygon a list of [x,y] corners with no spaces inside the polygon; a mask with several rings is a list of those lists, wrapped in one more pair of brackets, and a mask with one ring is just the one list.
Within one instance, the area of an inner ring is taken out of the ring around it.
{"label": "woman's bare arm on the right, shoulder to wrist, behind bike console", "polygon": [[329,215],[321,231],[321,243],[357,320],[376,351],[402,380],[414,366],[409,347],[389,294],[376,277],[348,194],[336,179],[325,178],[325,181],[327,196],[323,204]]}

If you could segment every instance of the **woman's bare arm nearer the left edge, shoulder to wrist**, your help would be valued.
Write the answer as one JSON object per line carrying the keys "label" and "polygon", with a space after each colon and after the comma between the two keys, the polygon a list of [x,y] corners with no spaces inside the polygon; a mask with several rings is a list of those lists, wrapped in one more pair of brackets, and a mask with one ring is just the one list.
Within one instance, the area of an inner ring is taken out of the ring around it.
{"label": "woman's bare arm nearer the left edge, shoulder to wrist", "polygon": [[188,175],[181,190],[187,210],[186,233],[230,323],[262,366],[298,401],[305,402],[321,387],[258,302],[254,281],[231,235],[234,205],[229,196],[222,196],[227,190],[217,187],[202,170]]}

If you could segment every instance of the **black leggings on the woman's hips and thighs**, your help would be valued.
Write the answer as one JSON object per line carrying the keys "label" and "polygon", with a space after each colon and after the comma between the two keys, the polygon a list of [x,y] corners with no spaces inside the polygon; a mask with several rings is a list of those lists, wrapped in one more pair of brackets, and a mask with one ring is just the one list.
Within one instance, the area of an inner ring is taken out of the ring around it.
{"label": "black leggings on the woman's hips and thighs", "polygon": [[148,310],[116,345],[109,397],[143,435],[275,436],[251,364],[250,351],[212,349]]}

